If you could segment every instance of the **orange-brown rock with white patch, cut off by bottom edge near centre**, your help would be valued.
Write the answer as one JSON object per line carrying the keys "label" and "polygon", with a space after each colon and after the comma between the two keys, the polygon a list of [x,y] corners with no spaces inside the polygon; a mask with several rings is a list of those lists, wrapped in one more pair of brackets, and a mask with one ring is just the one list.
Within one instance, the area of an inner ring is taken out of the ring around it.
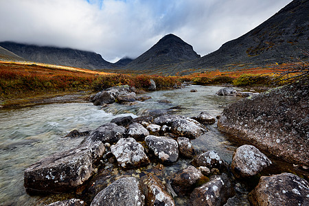
{"label": "orange-brown rock with white patch, cut off by bottom edge near centre", "polygon": [[166,205],[174,206],[174,199],[166,192],[164,185],[153,174],[147,174],[139,181],[145,195],[146,206]]}

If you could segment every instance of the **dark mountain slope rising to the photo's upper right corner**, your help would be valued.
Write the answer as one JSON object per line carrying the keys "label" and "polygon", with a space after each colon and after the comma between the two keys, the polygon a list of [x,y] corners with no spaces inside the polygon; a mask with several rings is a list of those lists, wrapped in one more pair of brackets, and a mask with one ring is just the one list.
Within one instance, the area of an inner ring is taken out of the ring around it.
{"label": "dark mountain slope rising to the photo's upper right corner", "polygon": [[[258,67],[295,58],[308,61],[309,1],[294,0],[247,34],[222,45],[216,52],[191,62],[175,65],[179,69],[237,69]],[[172,68],[170,68],[172,69]]]}

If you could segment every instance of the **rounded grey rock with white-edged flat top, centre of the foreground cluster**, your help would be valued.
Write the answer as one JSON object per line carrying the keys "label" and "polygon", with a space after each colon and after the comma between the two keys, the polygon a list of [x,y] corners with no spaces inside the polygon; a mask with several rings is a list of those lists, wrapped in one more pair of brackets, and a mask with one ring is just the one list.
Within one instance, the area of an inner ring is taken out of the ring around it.
{"label": "rounded grey rock with white-edged flat top, centre of the foreground cluster", "polygon": [[170,137],[149,135],[145,138],[148,148],[162,163],[174,163],[179,157],[177,141]]}

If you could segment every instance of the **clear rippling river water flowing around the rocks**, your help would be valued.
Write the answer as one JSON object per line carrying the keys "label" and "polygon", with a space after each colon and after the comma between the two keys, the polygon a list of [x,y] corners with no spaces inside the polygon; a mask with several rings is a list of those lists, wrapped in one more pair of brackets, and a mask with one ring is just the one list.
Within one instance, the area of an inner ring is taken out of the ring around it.
{"label": "clear rippling river water flowing around the rocks", "polygon": [[[158,109],[186,117],[207,111],[216,117],[224,106],[238,100],[236,97],[216,95],[221,88],[192,86],[155,91],[145,94],[152,99],[133,106],[111,104],[102,108],[91,103],[67,103],[0,110],[0,205],[39,203],[41,197],[25,192],[23,171],[43,157],[78,146],[82,138],[65,137],[71,130],[93,130],[115,117],[137,117]],[[191,89],[197,92],[190,92]],[[159,100],[171,103],[159,103]],[[230,163],[236,147],[218,132],[216,124],[207,127],[209,131],[205,135],[192,140],[194,148],[216,150],[222,159]],[[166,168],[166,172],[176,172],[187,163],[180,160]]]}

